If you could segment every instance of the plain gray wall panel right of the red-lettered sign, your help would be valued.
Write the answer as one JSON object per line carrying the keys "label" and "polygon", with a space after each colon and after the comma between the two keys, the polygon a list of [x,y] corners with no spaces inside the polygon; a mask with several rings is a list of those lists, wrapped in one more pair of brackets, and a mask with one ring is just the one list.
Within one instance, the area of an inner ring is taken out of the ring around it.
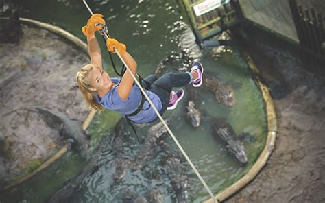
{"label": "plain gray wall panel right of the red-lettered sign", "polygon": [[287,0],[239,0],[239,3],[245,18],[298,42]]}

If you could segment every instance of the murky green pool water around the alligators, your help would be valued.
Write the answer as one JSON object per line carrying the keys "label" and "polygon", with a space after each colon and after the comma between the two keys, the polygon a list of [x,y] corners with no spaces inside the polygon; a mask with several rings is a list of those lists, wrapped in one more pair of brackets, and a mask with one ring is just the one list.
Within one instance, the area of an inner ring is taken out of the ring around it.
{"label": "murky green pool water around the alligators", "polygon": [[[154,71],[158,62],[170,51],[178,51],[177,40],[184,32],[184,20],[178,13],[178,7],[173,0],[168,1],[90,1],[93,12],[104,14],[108,23],[110,35],[125,43],[139,64],[139,73],[148,75]],[[25,16],[55,24],[85,40],[80,28],[88,19],[88,10],[82,1],[28,1],[23,7],[27,10]],[[100,41],[101,42],[101,41]],[[104,52],[104,46],[103,46]],[[108,59],[105,54],[104,57]],[[116,60],[117,62],[117,60]],[[220,81],[234,86],[236,105],[227,108],[217,104],[214,95],[199,88],[200,110],[204,112],[200,128],[194,129],[186,121],[186,97],[180,101],[178,108],[173,110],[173,123],[170,128],[176,134],[182,147],[193,161],[195,167],[206,180],[206,183],[217,193],[238,180],[250,169],[265,143],[267,123],[265,106],[260,91],[250,77],[247,64],[239,52],[226,47],[221,51],[204,50],[202,64],[206,71],[213,73]],[[110,61],[104,66],[114,75]],[[77,71],[77,70],[76,70]],[[169,68],[166,71],[175,71]],[[171,111],[165,113],[168,117]],[[248,165],[242,167],[237,160],[225,151],[225,146],[213,134],[210,117],[221,117],[230,123],[234,131],[249,132],[256,137],[250,143],[244,141],[248,154]],[[112,136],[112,126],[119,119],[114,112],[104,111],[97,115],[88,129],[97,143],[104,136]],[[147,129],[139,130],[139,135],[145,138]],[[128,128],[130,135],[130,157],[136,158],[139,143]],[[209,198],[203,185],[196,178],[171,138],[165,138],[166,145],[157,147],[156,156],[147,163],[141,171],[129,172],[119,184],[112,182],[115,171],[115,156],[107,154],[102,160],[99,170],[84,180],[84,187],[72,202],[119,202],[126,189],[145,194],[156,187],[164,191],[163,202],[175,202],[176,195],[171,187],[164,161],[168,156],[178,156],[184,166],[184,174],[189,177],[189,196],[191,202],[200,202]],[[107,145],[109,148],[109,145]],[[56,191],[60,184],[82,170],[84,161],[74,151],[67,153],[56,164],[25,182],[16,189],[1,194],[0,202],[42,202]]]}

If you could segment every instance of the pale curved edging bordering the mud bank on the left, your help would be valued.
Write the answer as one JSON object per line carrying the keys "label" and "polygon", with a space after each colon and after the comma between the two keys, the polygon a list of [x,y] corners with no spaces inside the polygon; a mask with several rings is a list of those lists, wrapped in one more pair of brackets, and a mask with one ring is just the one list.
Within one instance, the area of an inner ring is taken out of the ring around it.
{"label": "pale curved edging bordering the mud bank on the left", "polygon": [[[54,34],[57,34],[58,36],[69,40],[71,43],[73,43],[73,45],[76,45],[77,47],[82,49],[82,51],[85,51],[86,53],[88,51],[86,43],[84,43],[82,40],[80,40],[80,38],[77,38],[73,34],[65,31],[64,29],[62,29],[58,26],[50,25],[48,23],[43,23],[40,21],[35,21],[32,19],[19,18],[19,20],[21,21],[21,23],[24,23],[27,25],[32,25],[32,26],[40,27],[42,29],[47,29],[48,31],[53,32]],[[82,123],[82,130],[86,130],[88,128],[89,124],[93,120],[93,117],[95,117],[96,112],[97,112],[96,110],[91,108],[91,110],[88,112],[88,116]],[[49,165],[51,165],[51,163],[53,163],[56,160],[58,160],[59,158],[61,158],[68,150],[69,150],[69,144],[64,145],[58,152],[56,152],[56,154],[54,154],[53,156],[51,156],[51,158],[49,158],[43,164],[41,164],[40,167],[38,167],[31,173],[18,178],[16,181],[10,183],[8,186],[3,187],[3,189],[1,189],[1,190],[10,189],[11,187],[15,187],[15,186],[21,184],[25,180],[32,178],[32,176],[34,176],[35,174],[38,174],[40,171],[43,171],[45,168],[47,168]]]}

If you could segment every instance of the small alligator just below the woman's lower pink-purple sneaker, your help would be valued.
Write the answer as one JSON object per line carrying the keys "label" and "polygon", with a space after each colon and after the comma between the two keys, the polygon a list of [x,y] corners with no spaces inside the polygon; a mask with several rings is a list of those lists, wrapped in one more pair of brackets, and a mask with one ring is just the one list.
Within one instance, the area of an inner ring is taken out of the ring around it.
{"label": "small alligator just below the woman's lower pink-purple sneaker", "polygon": [[197,128],[200,126],[201,123],[201,112],[197,110],[197,108],[195,108],[195,106],[199,104],[197,99],[197,91],[192,87],[188,88],[188,90],[189,95],[187,99],[186,116],[187,120],[191,123],[191,125],[194,128]]}

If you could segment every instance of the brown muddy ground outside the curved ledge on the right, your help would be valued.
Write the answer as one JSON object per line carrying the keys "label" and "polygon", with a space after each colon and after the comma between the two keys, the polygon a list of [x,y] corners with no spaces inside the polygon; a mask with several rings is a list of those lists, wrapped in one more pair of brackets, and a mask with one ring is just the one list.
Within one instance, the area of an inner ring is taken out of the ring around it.
{"label": "brown muddy ground outside the curved ledge on the right", "polygon": [[246,48],[274,99],[276,144],[258,176],[225,202],[325,202],[324,77],[304,69],[295,47],[258,35]]}

